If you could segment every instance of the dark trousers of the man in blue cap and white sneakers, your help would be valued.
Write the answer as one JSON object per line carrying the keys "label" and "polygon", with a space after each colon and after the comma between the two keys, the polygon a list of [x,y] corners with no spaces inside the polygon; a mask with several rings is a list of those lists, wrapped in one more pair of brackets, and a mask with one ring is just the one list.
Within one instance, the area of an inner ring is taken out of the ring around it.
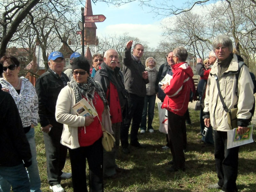
{"label": "dark trousers of the man in blue cap and white sneakers", "polygon": [[68,148],[60,144],[63,127],[53,126],[44,134],[47,180],[51,186],[60,184],[60,175],[65,166]]}

